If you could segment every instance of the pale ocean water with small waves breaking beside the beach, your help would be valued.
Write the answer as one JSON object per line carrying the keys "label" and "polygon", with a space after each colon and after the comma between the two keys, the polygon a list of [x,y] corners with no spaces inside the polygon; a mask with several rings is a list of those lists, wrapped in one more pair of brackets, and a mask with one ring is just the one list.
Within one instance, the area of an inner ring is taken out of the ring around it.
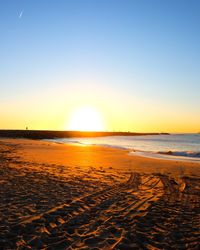
{"label": "pale ocean water with small waves breaking beside the beach", "polygon": [[62,138],[54,141],[128,149],[130,154],[146,157],[200,162],[200,134]]}

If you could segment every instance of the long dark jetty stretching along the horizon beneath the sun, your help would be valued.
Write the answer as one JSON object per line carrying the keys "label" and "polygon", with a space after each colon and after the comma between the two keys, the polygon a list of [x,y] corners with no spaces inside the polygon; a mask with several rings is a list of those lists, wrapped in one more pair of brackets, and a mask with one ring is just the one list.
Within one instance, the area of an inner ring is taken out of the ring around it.
{"label": "long dark jetty stretching along the horizon beneath the sun", "polygon": [[53,131],[53,130],[0,130],[0,137],[56,139],[71,137],[100,137],[100,136],[142,136],[169,135],[168,133],[134,133],[134,132],[83,132],[83,131]]}

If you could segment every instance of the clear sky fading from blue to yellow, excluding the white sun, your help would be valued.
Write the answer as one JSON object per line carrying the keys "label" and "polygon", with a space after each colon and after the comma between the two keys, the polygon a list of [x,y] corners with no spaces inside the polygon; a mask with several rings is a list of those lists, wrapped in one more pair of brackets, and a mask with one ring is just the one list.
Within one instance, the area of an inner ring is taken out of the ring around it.
{"label": "clear sky fading from blue to yellow, excluding the white sun", "polygon": [[0,1],[0,128],[200,131],[199,0]]}

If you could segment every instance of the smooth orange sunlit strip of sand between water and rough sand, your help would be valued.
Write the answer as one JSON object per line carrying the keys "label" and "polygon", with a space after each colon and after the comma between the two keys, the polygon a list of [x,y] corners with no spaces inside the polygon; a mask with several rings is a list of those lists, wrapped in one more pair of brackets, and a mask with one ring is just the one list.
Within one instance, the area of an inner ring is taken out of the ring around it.
{"label": "smooth orange sunlit strip of sand between water and rough sand", "polygon": [[[22,160],[32,161],[34,159],[38,164],[47,162],[53,164],[67,164],[70,166],[78,165],[80,167],[88,166],[108,166],[116,169],[129,171],[172,171],[180,172],[184,168],[186,172],[200,174],[200,162],[178,161],[176,159],[168,160],[164,158],[151,158],[143,155],[131,155],[130,150],[99,145],[84,145],[76,143],[57,143],[46,140],[32,139],[5,139],[0,141],[20,146],[20,156]],[[36,157],[37,156],[37,157]],[[51,157],[49,157],[51,156]],[[193,168],[193,169],[192,169]]]}

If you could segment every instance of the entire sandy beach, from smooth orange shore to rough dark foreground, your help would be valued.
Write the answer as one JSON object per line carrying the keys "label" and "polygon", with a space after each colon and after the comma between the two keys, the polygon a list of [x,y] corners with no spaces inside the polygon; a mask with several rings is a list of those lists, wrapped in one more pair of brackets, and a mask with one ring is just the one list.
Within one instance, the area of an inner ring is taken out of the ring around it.
{"label": "entire sandy beach, from smooth orange shore to rough dark foreground", "polygon": [[200,164],[0,139],[0,249],[200,249]]}

